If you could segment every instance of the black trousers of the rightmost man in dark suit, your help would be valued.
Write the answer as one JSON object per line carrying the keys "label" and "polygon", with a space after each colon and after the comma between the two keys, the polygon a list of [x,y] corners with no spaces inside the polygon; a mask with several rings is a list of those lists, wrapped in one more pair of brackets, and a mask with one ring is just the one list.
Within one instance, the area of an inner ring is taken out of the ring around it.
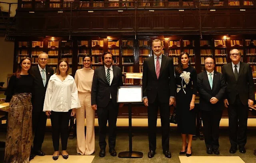
{"label": "black trousers of the rightmost man in dark suit", "polygon": [[244,147],[247,141],[248,105],[243,105],[239,95],[233,104],[228,106],[229,140],[231,148]]}

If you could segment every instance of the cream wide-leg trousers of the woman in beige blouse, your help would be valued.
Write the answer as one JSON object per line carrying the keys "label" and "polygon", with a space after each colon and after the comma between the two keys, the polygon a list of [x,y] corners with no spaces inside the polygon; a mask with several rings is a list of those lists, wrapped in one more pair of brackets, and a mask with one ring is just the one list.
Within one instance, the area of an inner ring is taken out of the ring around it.
{"label": "cream wide-leg trousers of the woman in beige blouse", "polygon": [[[77,153],[90,155],[95,151],[94,117],[91,105],[91,93],[79,93],[81,107],[76,109]],[[86,115],[86,137],[84,137],[84,117]]]}

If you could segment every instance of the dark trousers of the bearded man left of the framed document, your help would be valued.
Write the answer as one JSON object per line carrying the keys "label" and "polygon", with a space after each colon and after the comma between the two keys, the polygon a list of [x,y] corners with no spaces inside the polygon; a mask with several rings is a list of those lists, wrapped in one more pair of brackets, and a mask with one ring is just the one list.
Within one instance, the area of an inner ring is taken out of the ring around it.
{"label": "dark trousers of the bearded man left of the framed document", "polygon": [[106,132],[108,122],[108,146],[114,149],[116,146],[116,119],[118,115],[118,105],[114,105],[112,100],[108,102],[106,107],[97,108],[99,123],[99,145],[100,149],[106,148]]}

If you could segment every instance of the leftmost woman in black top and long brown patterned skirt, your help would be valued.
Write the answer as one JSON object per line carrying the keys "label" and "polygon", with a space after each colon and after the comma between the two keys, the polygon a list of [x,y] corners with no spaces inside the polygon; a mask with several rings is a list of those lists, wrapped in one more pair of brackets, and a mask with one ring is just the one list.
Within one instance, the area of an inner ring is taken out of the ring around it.
{"label": "leftmost woman in black top and long brown patterned skirt", "polygon": [[6,102],[10,102],[6,134],[4,163],[29,163],[32,145],[33,77],[31,59],[23,57],[6,89]]}

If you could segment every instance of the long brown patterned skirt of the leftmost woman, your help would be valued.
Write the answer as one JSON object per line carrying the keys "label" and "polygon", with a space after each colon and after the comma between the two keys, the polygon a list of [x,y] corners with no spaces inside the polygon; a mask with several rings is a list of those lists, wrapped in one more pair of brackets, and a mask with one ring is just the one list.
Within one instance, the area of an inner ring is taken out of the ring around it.
{"label": "long brown patterned skirt of the leftmost woman", "polygon": [[31,145],[31,95],[18,93],[10,101],[4,163],[29,163]]}

